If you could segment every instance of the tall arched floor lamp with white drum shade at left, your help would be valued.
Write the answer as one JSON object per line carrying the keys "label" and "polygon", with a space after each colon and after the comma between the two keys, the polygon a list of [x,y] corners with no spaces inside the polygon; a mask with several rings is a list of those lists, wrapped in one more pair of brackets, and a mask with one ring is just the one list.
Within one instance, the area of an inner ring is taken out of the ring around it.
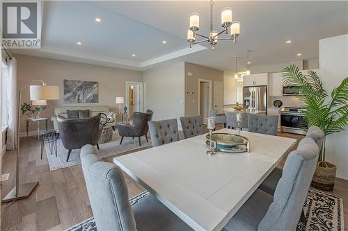
{"label": "tall arched floor lamp with white drum shade at left", "polygon": [[[42,85],[31,85],[34,82],[41,82]],[[16,186],[1,200],[1,203],[10,202],[13,200],[20,200],[28,198],[38,186],[39,182],[31,182],[19,185],[19,121],[20,121],[20,104],[22,100],[22,91],[30,86],[30,99],[33,100],[56,100],[59,99],[59,87],[47,86],[45,81],[32,80],[19,89],[18,91],[18,105],[17,105],[17,154],[16,154]]]}

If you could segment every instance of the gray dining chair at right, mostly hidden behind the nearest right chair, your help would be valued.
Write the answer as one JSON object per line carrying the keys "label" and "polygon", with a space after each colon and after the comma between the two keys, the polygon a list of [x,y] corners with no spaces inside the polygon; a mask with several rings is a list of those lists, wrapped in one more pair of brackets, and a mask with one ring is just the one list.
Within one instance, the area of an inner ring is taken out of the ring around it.
{"label": "gray dining chair at right, mostly hidden behind the nearest right chair", "polygon": [[[314,142],[317,144],[319,148],[319,151],[322,149],[322,145],[324,142],[324,132],[320,128],[316,126],[312,126],[308,128],[306,137],[310,137],[314,140]],[[278,182],[280,178],[282,177],[282,174],[283,174],[282,169],[279,169],[279,168],[274,169],[274,171],[271,171],[269,176],[267,176],[264,182],[262,182],[259,189],[273,196],[274,191],[276,191]]]}

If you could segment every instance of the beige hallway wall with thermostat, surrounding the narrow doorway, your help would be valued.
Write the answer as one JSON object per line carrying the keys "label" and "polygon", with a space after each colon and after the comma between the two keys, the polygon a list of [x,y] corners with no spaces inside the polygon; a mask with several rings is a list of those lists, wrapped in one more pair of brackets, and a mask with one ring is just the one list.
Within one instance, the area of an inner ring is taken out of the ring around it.
{"label": "beige hallway wall with thermostat, surrounding the narrow doorway", "polygon": [[[198,79],[212,80],[212,105],[214,104],[214,81],[223,82],[223,71],[185,62],[185,116],[198,114]],[[192,76],[188,76],[191,72]],[[189,94],[187,94],[189,92]],[[191,94],[193,92],[193,94]]]}

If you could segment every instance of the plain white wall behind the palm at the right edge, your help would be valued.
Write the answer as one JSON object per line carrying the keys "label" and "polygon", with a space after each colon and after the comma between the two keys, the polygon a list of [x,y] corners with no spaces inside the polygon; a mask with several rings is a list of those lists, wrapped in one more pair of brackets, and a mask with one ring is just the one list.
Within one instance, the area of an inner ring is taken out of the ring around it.
{"label": "plain white wall behind the palm at the right edge", "polygon": [[[319,76],[324,89],[334,87],[348,77],[348,34],[319,40]],[[329,94],[330,95],[330,94]],[[326,161],[337,166],[338,178],[348,180],[348,129],[326,138]]]}

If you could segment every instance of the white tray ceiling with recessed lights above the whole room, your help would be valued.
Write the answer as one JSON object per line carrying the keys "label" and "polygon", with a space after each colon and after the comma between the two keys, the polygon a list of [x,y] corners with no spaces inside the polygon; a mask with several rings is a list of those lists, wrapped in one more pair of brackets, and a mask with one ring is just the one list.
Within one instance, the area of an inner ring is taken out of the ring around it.
{"label": "white tray ceiling with recessed lights above the whole room", "polygon": [[233,58],[245,58],[247,49],[251,65],[299,60],[296,53],[306,60],[319,56],[319,39],[348,33],[348,1],[215,1],[216,30],[226,6],[241,35],[212,51],[209,44],[190,49],[186,40],[191,12],[200,14],[200,33],[208,33],[209,1],[45,1],[42,49],[13,53],[139,70],[177,60],[233,70]]}

